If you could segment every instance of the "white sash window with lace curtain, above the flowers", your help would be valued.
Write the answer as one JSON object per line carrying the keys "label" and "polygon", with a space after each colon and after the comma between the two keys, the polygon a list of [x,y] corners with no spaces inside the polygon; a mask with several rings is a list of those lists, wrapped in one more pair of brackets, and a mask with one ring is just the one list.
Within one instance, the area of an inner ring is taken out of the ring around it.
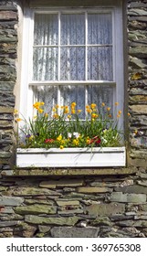
{"label": "white sash window with lace curtain, above the flowers", "polygon": [[121,5],[26,9],[20,111],[76,101],[85,119],[87,104],[105,102],[113,115],[118,101],[123,112],[122,59]]}

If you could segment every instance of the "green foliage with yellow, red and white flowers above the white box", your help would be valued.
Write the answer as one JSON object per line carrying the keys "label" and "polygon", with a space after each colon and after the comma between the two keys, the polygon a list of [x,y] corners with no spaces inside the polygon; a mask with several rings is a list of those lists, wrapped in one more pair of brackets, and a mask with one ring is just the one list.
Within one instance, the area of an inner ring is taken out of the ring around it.
{"label": "green foliage with yellow, red and white flowers above the white box", "polygon": [[110,108],[104,103],[101,104],[100,112],[95,103],[86,106],[85,120],[79,118],[81,110],[77,110],[76,102],[72,102],[69,107],[56,105],[52,113],[44,112],[44,102],[36,102],[33,106],[37,115],[28,121],[15,113],[16,122],[24,122],[20,128],[21,134],[24,134],[23,140],[25,138],[25,141],[19,139],[21,147],[62,149],[121,145],[122,133],[117,128],[121,111],[113,120]]}

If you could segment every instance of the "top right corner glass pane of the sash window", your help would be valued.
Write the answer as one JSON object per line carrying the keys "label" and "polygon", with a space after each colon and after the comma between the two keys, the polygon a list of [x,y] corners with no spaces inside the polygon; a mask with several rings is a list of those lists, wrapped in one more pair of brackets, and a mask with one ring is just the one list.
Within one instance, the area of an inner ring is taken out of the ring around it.
{"label": "top right corner glass pane of the sash window", "polygon": [[111,14],[88,15],[88,43],[102,45],[112,43]]}

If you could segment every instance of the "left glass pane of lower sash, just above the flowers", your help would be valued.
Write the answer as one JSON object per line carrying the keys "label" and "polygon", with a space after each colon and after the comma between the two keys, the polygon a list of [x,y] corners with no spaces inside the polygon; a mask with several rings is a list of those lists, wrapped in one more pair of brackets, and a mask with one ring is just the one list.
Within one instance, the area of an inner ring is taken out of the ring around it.
{"label": "left glass pane of lower sash, just above the flowers", "polygon": [[52,108],[58,104],[58,86],[39,85],[34,87],[36,101],[45,102],[45,112],[49,115],[52,113]]}

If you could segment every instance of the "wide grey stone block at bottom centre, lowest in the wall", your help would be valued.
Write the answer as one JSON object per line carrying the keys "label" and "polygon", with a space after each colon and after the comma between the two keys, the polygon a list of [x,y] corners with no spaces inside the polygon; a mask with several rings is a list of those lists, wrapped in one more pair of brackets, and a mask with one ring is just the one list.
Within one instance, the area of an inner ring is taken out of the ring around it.
{"label": "wide grey stone block at bottom centre, lowest in the wall", "polygon": [[99,230],[99,228],[54,227],[50,233],[52,238],[97,238]]}

